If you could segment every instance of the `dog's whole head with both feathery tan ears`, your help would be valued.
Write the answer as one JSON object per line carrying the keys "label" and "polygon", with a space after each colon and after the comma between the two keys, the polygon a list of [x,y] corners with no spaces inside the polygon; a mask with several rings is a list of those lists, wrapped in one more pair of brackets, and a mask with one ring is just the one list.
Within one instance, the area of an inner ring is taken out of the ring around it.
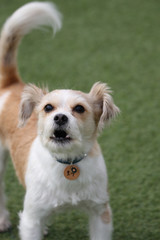
{"label": "dog's whole head with both feathery tan ears", "polygon": [[27,85],[20,104],[20,125],[33,110],[38,115],[38,135],[45,147],[55,153],[86,153],[105,123],[119,112],[106,84],[95,83],[86,94],[73,90],[47,93]]}

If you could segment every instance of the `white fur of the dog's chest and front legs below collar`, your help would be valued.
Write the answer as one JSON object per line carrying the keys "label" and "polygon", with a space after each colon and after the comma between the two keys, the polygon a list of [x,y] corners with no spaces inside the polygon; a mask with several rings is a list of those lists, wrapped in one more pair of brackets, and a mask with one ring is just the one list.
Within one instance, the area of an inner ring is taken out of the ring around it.
{"label": "white fur of the dog's chest and front legs below collar", "polygon": [[[40,240],[44,219],[51,212],[66,206],[77,206],[88,212],[92,240],[110,239],[111,223],[104,224],[100,217],[109,201],[104,159],[101,155],[86,157],[77,166],[81,171],[79,178],[76,181],[67,180],[63,175],[66,166],[56,161],[39,137],[35,139],[26,173],[27,192],[21,214],[21,239]],[[95,228],[97,231],[93,233]]]}

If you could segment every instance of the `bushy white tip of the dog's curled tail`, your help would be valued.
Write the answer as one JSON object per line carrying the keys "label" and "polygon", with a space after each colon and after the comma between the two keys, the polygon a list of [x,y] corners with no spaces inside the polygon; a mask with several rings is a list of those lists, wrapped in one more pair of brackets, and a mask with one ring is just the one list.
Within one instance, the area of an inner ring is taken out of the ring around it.
{"label": "bushy white tip of the dog's curled tail", "polygon": [[41,25],[51,25],[54,32],[61,28],[61,15],[55,5],[44,2],[27,3],[6,21],[3,32],[12,34],[18,31],[23,36]]}

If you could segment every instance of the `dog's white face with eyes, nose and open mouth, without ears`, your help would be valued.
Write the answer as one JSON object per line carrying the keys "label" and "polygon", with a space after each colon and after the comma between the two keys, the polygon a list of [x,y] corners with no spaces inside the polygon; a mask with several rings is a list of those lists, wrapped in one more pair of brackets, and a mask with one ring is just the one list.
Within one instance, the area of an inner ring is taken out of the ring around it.
{"label": "dog's white face with eyes, nose and open mouth, without ears", "polygon": [[51,151],[84,149],[95,135],[92,106],[87,96],[81,92],[50,92],[37,106],[37,113],[39,135]]}

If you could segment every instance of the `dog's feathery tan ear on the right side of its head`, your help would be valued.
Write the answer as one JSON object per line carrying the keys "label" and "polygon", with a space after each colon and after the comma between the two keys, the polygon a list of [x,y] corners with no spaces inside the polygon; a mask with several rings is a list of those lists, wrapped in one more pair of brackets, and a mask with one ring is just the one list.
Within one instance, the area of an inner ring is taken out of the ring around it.
{"label": "dog's feathery tan ear on the right side of its head", "polygon": [[109,123],[120,112],[113,102],[111,92],[107,84],[100,82],[95,83],[89,92],[99,130],[102,130],[105,123]]}

